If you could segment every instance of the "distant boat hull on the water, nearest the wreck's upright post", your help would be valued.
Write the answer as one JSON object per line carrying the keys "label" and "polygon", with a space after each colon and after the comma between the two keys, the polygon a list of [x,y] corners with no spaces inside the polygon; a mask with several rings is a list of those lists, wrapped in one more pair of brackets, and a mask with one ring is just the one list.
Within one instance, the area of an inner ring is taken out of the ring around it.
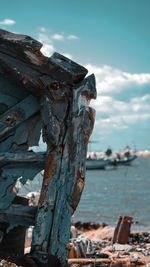
{"label": "distant boat hull on the water, nearest the wreck's upright post", "polygon": [[92,159],[88,158],[86,161],[86,169],[87,170],[100,170],[105,169],[105,166],[108,165],[110,159],[99,158],[99,159]]}

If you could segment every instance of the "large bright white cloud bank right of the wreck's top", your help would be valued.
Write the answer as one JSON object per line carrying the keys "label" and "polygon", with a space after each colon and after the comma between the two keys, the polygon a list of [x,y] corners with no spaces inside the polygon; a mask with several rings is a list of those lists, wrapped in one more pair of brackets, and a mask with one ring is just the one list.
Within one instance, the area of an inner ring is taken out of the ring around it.
{"label": "large bright white cloud bank right of the wreck's top", "polygon": [[[103,132],[128,129],[133,125],[142,125],[150,121],[150,94],[137,96],[137,87],[150,86],[150,73],[131,74],[110,66],[86,65],[89,73],[96,76],[97,99],[91,105],[96,110],[95,131]],[[133,90],[131,98],[118,100],[116,92],[126,95]]]}

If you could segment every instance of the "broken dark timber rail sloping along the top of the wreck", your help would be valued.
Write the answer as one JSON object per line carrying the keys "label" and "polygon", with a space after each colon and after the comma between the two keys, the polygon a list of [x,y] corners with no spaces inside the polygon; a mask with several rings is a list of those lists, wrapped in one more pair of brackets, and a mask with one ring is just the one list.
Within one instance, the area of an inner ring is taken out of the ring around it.
{"label": "broken dark timber rail sloping along the top of the wreck", "polygon": [[30,87],[34,93],[53,83],[77,84],[87,75],[85,67],[59,53],[49,58],[44,56],[41,47],[41,43],[29,36],[0,29],[0,72]]}

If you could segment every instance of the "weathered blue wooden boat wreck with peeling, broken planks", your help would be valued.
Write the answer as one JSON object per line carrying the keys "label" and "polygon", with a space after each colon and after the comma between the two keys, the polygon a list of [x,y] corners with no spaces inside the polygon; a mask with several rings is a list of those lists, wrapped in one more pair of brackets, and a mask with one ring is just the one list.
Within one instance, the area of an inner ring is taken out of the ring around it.
{"label": "weathered blue wooden boat wreck with peeling, broken planks", "polygon": [[[94,74],[85,78],[87,69],[58,53],[47,58],[41,47],[0,30],[0,221],[34,225],[30,257],[39,266],[52,257],[55,266],[66,262],[70,217],[84,187],[96,88]],[[35,153],[29,148],[41,129],[47,151]],[[12,204],[17,179],[24,184],[42,169],[38,207]]]}

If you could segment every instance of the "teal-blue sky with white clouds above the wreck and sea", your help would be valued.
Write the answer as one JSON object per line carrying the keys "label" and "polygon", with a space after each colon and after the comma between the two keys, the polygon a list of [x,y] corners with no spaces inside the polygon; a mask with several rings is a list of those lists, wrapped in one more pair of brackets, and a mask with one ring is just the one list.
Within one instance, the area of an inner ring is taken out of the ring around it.
{"label": "teal-blue sky with white clouds above the wreck and sea", "polygon": [[150,1],[1,0],[0,27],[32,36],[94,72],[92,150],[150,150]]}

